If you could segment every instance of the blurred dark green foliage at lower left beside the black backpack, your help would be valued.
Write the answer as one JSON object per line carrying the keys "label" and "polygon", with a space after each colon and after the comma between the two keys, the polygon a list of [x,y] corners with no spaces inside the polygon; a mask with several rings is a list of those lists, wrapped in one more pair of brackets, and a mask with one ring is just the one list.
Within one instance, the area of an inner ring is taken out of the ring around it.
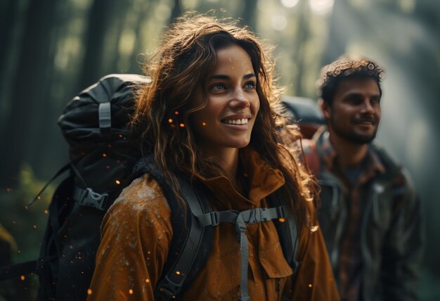
{"label": "blurred dark green foliage at lower left beside the black backpack", "polygon": [[[45,183],[34,176],[27,164],[20,169],[18,183],[18,188],[6,188],[0,192],[0,239],[4,246],[10,245],[10,248],[0,250],[4,264],[8,264],[9,260],[11,264],[37,259],[46,228],[48,204],[55,188],[49,185],[41,197],[29,206],[27,204]],[[2,281],[0,300],[34,300],[38,287],[35,274]]]}

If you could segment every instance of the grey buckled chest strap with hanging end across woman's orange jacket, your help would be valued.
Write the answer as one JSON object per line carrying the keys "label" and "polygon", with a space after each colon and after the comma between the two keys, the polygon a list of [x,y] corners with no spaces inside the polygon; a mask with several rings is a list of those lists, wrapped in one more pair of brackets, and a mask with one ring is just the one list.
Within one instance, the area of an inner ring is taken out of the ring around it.
{"label": "grey buckled chest strap with hanging end across woman's orange jacket", "polygon": [[285,206],[272,208],[252,208],[242,212],[235,210],[217,211],[201,214],[196,217],[202,227],[217,226],[221,222],[235,224],[237,241],[240,242],[241,276],[240,276],[240,301],[249,301],[247,290],[247,267],[249,265],[249,246],[247,245],[246,224],[268,222],[272,219],[285,219]]}

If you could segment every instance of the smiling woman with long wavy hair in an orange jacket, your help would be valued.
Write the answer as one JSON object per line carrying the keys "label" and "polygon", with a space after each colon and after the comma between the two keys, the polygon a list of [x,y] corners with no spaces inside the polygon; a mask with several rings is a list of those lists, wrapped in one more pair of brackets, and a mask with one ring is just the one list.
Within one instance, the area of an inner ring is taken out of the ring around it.
{"label": "smiling woman with long wavy hair in an orange jacket", "polygon": [[[277,143],[283,120],[272,108],[280,95],[273,67],[246,27],[205,16],[174,24],[156,62],[146,67],[153,80],[139,91],[136,137],[143,153],[153,153],[181,206],[178,176],[201,185],[218,211],[272,207],[268,196],[277,191],[302,229],[294,273],[274,223],[246,225],[244,290],[235,226],[219,224],[207,262],[181,293],[183,300],[338,299],[311,202],[313,183]],[[134,180],[101,229],[88,300],[153,300],[176,230],[157,181],[148,174]]]}

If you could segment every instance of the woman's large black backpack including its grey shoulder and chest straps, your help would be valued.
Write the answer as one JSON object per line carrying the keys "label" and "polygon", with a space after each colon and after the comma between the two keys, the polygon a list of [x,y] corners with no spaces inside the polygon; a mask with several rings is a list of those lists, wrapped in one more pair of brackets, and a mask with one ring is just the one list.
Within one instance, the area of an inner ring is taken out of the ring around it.
{"label": "woman's large black backpack including its grey shoulder and chest straps", "polygon": [[[235,224],[238,231],[242,250],[241,300],[248,299],[245,223],[273,220],[283,254],[295,271],[299,231],[295,217],[279,205],[278,193],[269,196],[271,203],[277,204],[273,208],[216,212],[207,207],[208,202],[202,201],[206,197],[202,187],[190,186],[185,179],[179,179],[187,204],[187,212],[183,214],[152,156],[141,158],[129,139],[128,124],[129,116],[134,112],[134,92],[138,85],[148,82],[150,79],[141,75],[108,75],[67,103],[58,125],[70,146],[70,162],[48,184],[60,174],[69,174],[53,193],[39,260],[2,269],[0,279],[36,270],[40,281],[38,300],[85,300],[95,267],[104,214],[122,188],[145,173],[162,186],[172,209],[172,224],[179,225],[173,226],[169,257],[155,288],[155,299],[179,299],[179,295],[190,286],[205,265],[213,227],[220,222]],[[182,227],[185,216],[187,226]]]}

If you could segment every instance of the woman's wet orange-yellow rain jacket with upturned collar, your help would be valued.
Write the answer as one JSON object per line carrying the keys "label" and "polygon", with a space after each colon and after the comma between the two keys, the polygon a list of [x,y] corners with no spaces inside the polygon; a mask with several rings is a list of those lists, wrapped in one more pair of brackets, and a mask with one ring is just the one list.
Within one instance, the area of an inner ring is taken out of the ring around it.
{"label": "woman's wet orange-yellow rain jacket with upturned collar", "polygon": [[[225,177],[201,179],[219,210],[271,207],[266,197],[284,184],[283,174],[249,148],[240,160],[250,183],[249,198]],[[273,222],[247,225],[250,300],[339,300],[321,229],[312,202],[306,202],[306,226],[300,234],[295,274],[283,256]],[[110,207],[101,226],[88,301],[154,300],[153,292],[167,260],[173,236],[164,193],[148,176],[134,180]],[[240,243],[233,224],[214,227],[212,250],[183,300],[238,300]]]}

